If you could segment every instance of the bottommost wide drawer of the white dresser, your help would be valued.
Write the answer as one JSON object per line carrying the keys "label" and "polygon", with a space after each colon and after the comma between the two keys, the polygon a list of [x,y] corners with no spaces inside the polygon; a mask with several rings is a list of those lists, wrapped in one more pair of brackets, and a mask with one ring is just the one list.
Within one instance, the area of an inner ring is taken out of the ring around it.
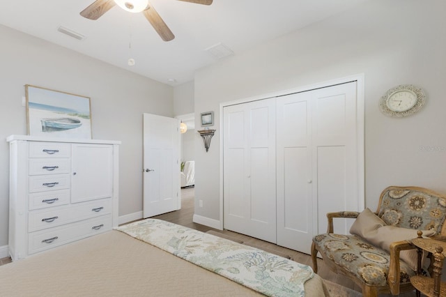
{"label": "bottommost wide drawer of the white dresser", "polygon": [[111,229],[112,215],[103,215],[100,218],[33,232],[28,236],[28,252],[29,254],[34,254]]}

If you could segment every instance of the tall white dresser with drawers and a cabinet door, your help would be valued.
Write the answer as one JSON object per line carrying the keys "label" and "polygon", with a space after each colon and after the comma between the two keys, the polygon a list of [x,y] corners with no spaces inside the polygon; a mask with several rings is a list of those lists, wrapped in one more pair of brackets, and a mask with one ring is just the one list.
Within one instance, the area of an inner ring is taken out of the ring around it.
{"label": "tall white dresser with drawers and a cabinet door", "polygon": [[118,226],[116,141],[11,135],[13,261]]}

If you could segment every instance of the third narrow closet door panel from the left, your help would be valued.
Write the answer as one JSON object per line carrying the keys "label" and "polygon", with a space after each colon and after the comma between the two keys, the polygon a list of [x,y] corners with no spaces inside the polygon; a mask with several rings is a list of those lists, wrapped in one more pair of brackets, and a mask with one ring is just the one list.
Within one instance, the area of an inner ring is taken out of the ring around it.
{"label": "third narrow closet door panel from the left", "polygon": [[277,98],[277,244],[309,253],[313,238],[312,95]]}

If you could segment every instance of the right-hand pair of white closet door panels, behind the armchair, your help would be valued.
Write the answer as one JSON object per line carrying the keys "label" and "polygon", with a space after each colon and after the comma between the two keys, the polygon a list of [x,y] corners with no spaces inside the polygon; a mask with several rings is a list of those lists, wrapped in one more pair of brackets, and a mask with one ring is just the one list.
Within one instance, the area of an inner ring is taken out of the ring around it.
{"label": "right-hand pair of white closet door panels, behind the armchair", "polygon": [[309,254],[326,213],[358,210],[356,97],[350,82],[277,98],[278,245]]}

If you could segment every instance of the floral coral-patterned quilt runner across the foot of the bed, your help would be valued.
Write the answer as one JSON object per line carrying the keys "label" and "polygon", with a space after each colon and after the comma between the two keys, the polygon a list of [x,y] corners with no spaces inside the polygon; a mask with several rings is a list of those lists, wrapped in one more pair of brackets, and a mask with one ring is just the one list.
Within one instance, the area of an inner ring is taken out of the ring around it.
{"label": "floral coral-patterned quilt runner across the foot of the bed", "polygon": [[146,219],[116,228],[266,296],[305,296],[312,268],[201,231]]}

